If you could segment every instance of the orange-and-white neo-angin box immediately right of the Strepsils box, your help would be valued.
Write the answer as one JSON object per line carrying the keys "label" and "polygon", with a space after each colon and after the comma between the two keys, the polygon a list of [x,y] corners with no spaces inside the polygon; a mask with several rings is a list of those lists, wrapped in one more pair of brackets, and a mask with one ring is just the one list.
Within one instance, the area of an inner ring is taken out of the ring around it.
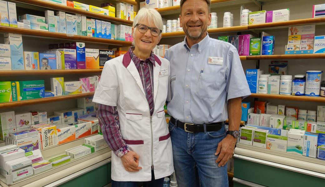
{"label": "orange-and-white neo-angin box immediately right of the Strepsils box", "polygon": [[63,144],[76,139],[76,127],[74,125],[57,126],[58,144]]}

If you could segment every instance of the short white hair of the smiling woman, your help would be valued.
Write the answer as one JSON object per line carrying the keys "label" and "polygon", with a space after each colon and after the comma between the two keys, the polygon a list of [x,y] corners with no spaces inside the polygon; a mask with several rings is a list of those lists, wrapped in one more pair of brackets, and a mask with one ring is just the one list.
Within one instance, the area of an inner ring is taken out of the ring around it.
{"label": "short white hair of the smiling woman", "polygon": [[[158,29],[162,30],[162,16],[156,9],[153,8],[141,8],[139,12],[136,14],[136,17],[133,21],[133,28],[136,28],[136,24],[141,23],[142,21],[148,21],[149,24],[154,25]],[[135,34],[136,29],[133,31],[133,35]],[[161,33],[159,35],[161,37]],[[134,45],[134,41],[132,42]]]}

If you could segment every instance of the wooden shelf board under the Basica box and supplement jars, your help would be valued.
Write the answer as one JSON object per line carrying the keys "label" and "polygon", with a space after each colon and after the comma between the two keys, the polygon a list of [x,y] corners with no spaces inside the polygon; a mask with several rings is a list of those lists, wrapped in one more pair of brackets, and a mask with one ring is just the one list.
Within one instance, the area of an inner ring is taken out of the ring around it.
{"label": "wooden shelf board under the Basica box and supplement jars", "polygon": [[283,99],[295,101],[308,101],[308,102],[325,102],[325,97],[310,97],[310,96],[293,96],[293,95],[273,95],[273,94],[260,94],[252,93],[250,97],[265,98],[265,99]]}

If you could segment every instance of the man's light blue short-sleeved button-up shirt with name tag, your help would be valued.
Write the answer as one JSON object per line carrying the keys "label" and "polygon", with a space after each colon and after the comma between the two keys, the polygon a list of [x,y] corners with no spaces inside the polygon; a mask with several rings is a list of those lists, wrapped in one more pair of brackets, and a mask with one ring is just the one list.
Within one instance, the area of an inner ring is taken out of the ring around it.
{"label": "man's light blue short-sleeved button-up shirt with name tag", "polygon": [[165,53],[171,62],[168,113],[184,123],[223,122],[227,101],[251,94],[238,51],[210,38],[188,48],[186,38]]}

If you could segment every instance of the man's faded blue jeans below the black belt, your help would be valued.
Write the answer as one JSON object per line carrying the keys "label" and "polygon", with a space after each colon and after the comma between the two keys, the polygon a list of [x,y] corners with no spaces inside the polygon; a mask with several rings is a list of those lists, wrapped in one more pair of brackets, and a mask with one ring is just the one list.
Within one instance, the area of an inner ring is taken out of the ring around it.
{"label": "man's faded blue jeans below the black belt", "polygon": [[[188,133],[169,121],[174,168],[179,187],[227,187],[227,164],[218,167],[214,155],[218,143],[226,137],[225,126],[219,131]],[[197,174],[200,182],[197,179]]]}

